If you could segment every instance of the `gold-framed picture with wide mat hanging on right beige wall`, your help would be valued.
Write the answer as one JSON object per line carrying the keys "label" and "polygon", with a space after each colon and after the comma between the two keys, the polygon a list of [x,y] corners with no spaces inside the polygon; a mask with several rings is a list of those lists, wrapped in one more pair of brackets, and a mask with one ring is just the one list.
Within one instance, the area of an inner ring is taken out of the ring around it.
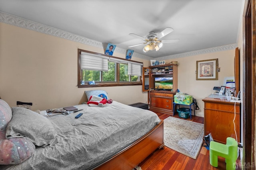
{"label": "gold-framed picture with wide mat hanging on right beige wall", "polygon": [[196,61],[196,80],[218,80],[218,59]]}

